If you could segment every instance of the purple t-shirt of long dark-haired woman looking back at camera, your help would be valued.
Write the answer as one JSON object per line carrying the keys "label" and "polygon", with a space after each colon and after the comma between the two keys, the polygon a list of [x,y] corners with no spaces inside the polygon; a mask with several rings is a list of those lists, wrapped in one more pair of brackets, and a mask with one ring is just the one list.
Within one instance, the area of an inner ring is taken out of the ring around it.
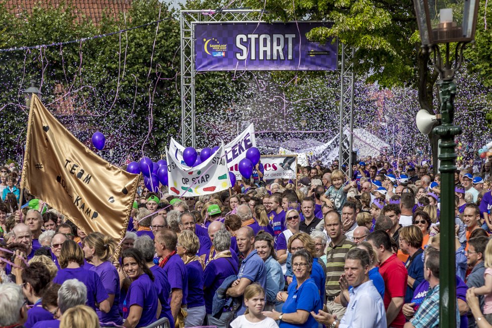
{"label": "purple t-shirt of long dark-haired woman looking back at camera", "polygon": [[130,314],[130,307],[138,305],[142,307],[142,315],[137,327],[145,327],[156,321],[157,314],[157,290],[150,277],[143,273],[128,288],[127,297],[123,302],[123,319],[126,320]]}

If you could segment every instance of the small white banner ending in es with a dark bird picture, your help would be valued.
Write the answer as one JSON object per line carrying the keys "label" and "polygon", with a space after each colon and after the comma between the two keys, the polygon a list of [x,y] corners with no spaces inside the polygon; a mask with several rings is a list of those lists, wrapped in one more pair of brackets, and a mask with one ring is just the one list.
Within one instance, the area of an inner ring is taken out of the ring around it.
{"label": "small white banner ending in es with a dark bird picture", "polygon": [[297,177],[297,155],[263,155],[263,179],[295,179]]}

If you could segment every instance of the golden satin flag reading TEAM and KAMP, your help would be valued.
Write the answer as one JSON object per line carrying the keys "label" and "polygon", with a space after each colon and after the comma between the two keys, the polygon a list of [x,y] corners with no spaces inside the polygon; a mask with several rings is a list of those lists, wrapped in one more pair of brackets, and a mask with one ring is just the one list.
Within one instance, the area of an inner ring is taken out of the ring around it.
{"label": "golden satin flag reading TEAM and KAMP", "polygon": [[21,187],[86,234],[125,235],[139,175],[106,162],[78,141],[33,95]]}

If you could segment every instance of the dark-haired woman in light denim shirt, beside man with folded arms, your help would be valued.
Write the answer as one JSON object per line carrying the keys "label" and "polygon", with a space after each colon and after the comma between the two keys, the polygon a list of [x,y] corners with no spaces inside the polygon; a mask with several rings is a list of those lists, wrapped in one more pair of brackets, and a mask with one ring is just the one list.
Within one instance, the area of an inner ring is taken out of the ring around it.
{"label": "dark-haired woman in light denim shirt, beside man with folded arms", "polygon": [[275,308],[277,311],[281,312],[283,302],[277,300],[277,294],[284,290],[285,278],[282,273],[282,267],[279,262],[277,262],[272,235],[265,231],[260,231],[255,237],[255,249],[265,262],[265,267],[267,268],[267,301],[265,303],[265,310]]}

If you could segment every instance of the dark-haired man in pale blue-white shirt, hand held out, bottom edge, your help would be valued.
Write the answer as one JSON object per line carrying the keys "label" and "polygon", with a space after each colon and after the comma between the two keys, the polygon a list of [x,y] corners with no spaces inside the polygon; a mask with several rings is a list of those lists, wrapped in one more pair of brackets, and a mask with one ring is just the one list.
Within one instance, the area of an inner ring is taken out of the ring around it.
{"label": "dark-haired man in pale blue-white shirt, hand held out, bottom edge", "polygon": [[[330,313],[311,311],[312,316],[327,328],[387,328],[385,304],[378,290],[369,279],[369,255],[360,248],[352,248],[345,257],[345,273],[340,282],[346,279],[350,290],[350,300],[341,321]],[[348,286],[347,286],[348,288]]]}

